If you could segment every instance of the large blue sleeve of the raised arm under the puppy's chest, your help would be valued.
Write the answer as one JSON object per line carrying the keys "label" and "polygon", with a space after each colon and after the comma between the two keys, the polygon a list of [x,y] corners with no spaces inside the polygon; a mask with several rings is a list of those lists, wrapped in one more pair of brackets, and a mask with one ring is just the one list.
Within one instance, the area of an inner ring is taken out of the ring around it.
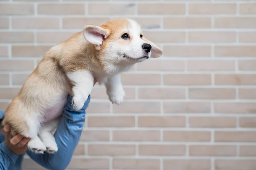
{"label": "large blue sleeve of the raised arm under the puppy's chest", "polygon": [[90,102],[90,95],[84,107],[76,111],[71,104],[72,97],[68,95],[67,105],[64,107],[63,116],[54,134],[58,151],[54,154],[36,154],[27,151],[27,154],[41,166],[50,170],[65,170],[71,161],[76,146],[80,140],[84,127],[85,109]]}

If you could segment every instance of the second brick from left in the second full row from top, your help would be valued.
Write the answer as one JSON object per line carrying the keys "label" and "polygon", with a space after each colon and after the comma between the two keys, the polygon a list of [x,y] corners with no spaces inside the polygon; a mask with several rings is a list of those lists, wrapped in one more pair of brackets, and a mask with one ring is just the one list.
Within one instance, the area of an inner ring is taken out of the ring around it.
{"label": "second brick from left in the second full row from top", "polygon": [[13,17],[12,28],[14,29],[59,29],[58,18],[47,17]]}

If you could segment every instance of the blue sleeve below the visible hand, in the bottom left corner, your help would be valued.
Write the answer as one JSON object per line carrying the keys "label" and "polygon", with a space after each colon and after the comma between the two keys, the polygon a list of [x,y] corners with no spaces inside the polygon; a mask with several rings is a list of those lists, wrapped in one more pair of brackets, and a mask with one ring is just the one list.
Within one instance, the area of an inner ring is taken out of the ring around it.
{"label": "blue sleeve below the visible hand, in the bottom left corner", "polygon": [[[0,110],[0,119],[4,112]],[[14,164],[18,156],[10,150],[3,141],[0,141],[0,170],[8,170],[10,164]]]}

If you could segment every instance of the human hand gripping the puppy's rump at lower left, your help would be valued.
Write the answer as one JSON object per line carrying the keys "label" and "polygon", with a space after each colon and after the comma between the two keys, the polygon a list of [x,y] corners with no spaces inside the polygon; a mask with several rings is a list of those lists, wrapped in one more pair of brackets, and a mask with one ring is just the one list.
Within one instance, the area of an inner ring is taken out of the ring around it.
{"label": "human hand gripping the puppy's rump at lower left", "polygon": [[30,141],[30,138],[25,138],[22,135],[15,135],[11,140],[9,138],[9,133],[11,130],[11,126],[7,124],[4,127],[5,132],[5,141],[6,146],[12,150],[16,155],[21,155],[28,150],[27,143]]}

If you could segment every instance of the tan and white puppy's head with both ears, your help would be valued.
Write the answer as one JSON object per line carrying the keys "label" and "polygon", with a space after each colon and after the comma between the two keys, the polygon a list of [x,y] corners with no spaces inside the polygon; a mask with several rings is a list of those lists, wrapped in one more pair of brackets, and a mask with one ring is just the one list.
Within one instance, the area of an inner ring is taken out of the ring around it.
{"label": "tan and white puppy's head with both ears", "polygon": [[130,19],[110,20],[100,26],[87,25],[83,35],[105,61],[133,64],[163,54],[162,49],[144,37],[141,26]]}

